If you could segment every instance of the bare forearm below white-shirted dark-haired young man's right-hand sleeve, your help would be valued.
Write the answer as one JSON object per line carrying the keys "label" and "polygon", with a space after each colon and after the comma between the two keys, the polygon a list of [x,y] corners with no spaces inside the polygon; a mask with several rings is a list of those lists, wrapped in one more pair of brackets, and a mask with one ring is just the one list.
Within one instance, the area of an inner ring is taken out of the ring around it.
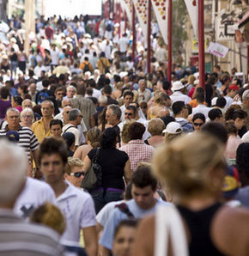
{"label": "bare forearm below white-shirted dark-haired young man's right-hand sleeve", "polygon": [[97,256],[98,241],[96,227],[88,227],[83,229],[85,248],[88,256]]}

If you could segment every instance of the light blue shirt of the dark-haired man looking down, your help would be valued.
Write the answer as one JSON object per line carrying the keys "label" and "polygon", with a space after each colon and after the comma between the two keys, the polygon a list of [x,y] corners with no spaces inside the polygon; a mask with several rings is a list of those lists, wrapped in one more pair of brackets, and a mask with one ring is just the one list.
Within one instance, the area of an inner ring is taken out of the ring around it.
{"label": "light blue shirt of the dark-haired man looking down", "polygon": [[[129,207],[129,210],[135,216],[135,218],[140,219],[144,216],[147,216],[149,214],[155,213],[155,209],[160,204],[170,204],[166,203],[164,201],[157,200],[155,206],[149,210],[143,210],[139,208],[135,202],[134,199],[131,199],[130,201],[126,202],[126,204]],[[106,227],[103,231],[103,235],[100,238],[100,245],[103,247],[108,248],[109,250],[112,250],[112,241],[114,237],[114,231],[116,227],[118,226],[118,223],[122,220],[127,219],[128,216],[119,210],[118,208],[114,209],[112,211],[112,215],[109,217],[108,222],[106,223]]]}

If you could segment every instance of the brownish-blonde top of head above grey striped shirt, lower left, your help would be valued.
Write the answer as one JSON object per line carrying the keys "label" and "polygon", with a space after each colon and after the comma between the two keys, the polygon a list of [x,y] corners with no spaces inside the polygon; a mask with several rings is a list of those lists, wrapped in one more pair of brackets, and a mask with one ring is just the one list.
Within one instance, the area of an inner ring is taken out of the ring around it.
{"label": "brownish-blonde top of head above grey striped shirt, lower left", "polygon": [[57,231],[60,235],[63,235],[66,227],[64,215],[57,206],[51,203],[40,205],[36,210],[33,211],[30,220],[32,222],[44,224]]}

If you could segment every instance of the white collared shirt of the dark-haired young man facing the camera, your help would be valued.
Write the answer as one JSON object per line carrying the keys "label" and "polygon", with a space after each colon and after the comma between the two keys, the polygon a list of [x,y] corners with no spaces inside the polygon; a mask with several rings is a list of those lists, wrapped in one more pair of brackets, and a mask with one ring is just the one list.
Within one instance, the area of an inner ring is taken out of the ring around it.
{"label": "white collared shirt of the dark-haired young man facing the camera", "polygon": [[56,205],[64,213],[66,230],[62,241],[79,241],[81,229],[96,225],[94,201],[87,193],[81,191],[65,180],[67,189],[58,198]]}

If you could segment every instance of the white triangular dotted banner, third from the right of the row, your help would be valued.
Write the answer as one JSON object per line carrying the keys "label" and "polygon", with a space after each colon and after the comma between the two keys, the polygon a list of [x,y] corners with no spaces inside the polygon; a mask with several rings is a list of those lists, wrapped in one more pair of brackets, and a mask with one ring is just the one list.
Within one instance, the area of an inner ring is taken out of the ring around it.
{"label": "white triangular dotted banner, third from the right of the row", "polygon": [[[148,23],[148,1],[147,0],[133,0],[138,22],[143,32],[144,43],[147,42],[147,23]],[[149,21],[150,22],[150,21]],[[146,44],[146,43],[145,43]]]}

